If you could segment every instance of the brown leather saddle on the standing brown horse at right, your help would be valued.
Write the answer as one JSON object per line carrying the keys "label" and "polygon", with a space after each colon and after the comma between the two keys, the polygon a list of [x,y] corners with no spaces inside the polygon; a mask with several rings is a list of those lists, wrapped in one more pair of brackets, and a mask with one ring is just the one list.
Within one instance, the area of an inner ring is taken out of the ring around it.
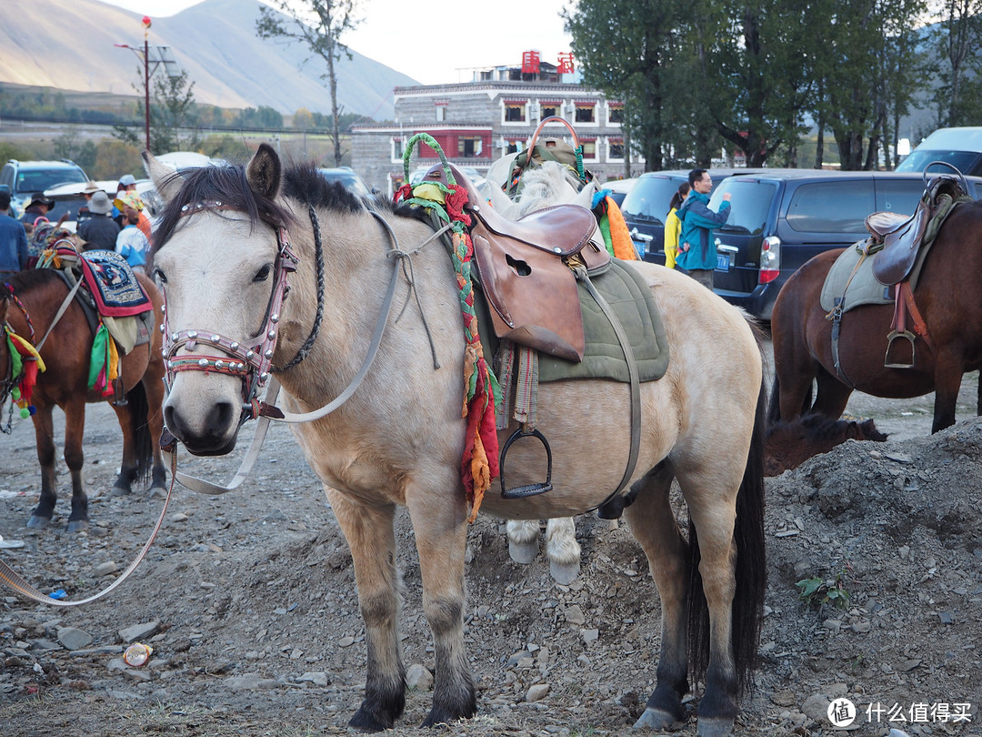
{"label": "brown leather saddle on the standing brown horse at right", "polygon": [[[943,196],[948,199],[942,200]],[[931,220],[946,204],[964,197],[965,192],[953,177],[936,177],[917,203],[914,214],[905,217],[896,212],[874,212],[866,218],[870,233],[869,253],[879,250],[873,260],[873,276],[885,286],[899,284],[909,274],[924,245],[924,235]]]}

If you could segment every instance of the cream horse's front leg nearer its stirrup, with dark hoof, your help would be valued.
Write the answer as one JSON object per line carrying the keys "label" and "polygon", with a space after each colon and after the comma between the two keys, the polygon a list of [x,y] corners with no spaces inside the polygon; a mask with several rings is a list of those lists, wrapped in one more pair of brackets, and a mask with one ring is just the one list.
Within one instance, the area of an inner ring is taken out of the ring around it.
{"label": "cream horse's front leg nearer its stirrup, with dark hoof", "polygon": [[467,521],[463,504],[432,492],[407,493],[407,505],[419,553],[423,610],[436,655],[433,708],[421,725],[432,727],[477,712],[474,679],[464,650]]}

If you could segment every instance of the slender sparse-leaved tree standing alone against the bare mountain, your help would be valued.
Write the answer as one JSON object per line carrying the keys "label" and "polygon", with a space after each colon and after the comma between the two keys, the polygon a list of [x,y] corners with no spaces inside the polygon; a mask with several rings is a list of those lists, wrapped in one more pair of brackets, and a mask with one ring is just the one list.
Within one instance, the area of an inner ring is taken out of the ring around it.
{"label": "slender sparse-leaved tree standing alone against the bare mountain", "polygon": [[[360,0],[272,0],[271,5],[279,13],[265,5],[259,6],[259,19],[255,28],[260,38],[282,39],[285,42],[302,41],[310,52],[304,64],[313,57],[319,57],[327,64],[328,92],[331,96],[331,138],[334,142],[334,165],[341,166],[341,127],[338,122],[338,75],[335,63],[342,55],[352,58],[348,46],[341,42],[341,36],[355,28],[360,20],[355,13]],[[301,17],[290,14],[299,7]],[[309,23],[304,22],[304,19]]]}

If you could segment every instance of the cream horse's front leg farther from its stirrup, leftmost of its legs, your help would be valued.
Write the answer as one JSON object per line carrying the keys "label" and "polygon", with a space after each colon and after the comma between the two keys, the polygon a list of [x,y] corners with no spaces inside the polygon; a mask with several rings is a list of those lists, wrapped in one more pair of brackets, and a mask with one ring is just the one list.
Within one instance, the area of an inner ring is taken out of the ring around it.
{"label": "cream horse's front leg farther from its stirrup, leftmost of its legs", "polygon": [[406,707],[406,667],[397,632],[402,597],[393,527],[396,507],[360,504],[327,484],[324,490],[352,551],[368,649],[365,698],[348,723],[362,732],[380,732],[390,729]]}

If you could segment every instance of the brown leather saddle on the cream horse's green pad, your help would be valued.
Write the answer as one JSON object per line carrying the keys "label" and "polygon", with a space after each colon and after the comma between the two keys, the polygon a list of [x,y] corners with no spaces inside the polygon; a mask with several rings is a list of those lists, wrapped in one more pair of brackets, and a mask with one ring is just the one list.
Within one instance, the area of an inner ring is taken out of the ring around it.
{"label": "brown leather saddle on the cream horse's green pad", "polygon": [[[585,338],[574,265],[598,273],[610,255],[593,213],[575,204],[532,212],[519,220],[498,213],[466,175],[450,170],[467,194],[470,238],[495,335],[552,356],[579,362]],[[447,184],[442,165],[422,181]]]}

